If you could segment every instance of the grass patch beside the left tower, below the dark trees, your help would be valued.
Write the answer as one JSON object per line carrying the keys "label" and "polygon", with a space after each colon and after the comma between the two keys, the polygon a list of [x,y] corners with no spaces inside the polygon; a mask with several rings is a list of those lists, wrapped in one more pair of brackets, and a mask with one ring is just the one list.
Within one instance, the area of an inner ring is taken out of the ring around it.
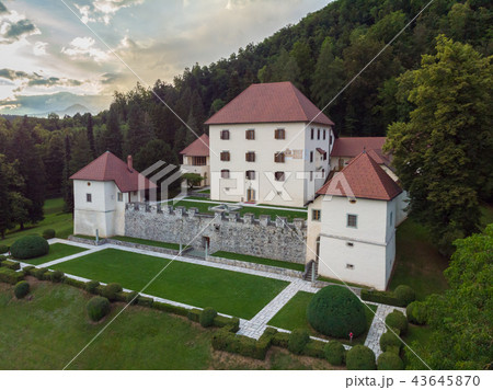
{"label": "grass patch beside the left tower, below the dark trees", "polygon": [[19,227],[9,230],[4,240],[0,240],[0,244],[12,245],[13,242],[28,234],[42,234],[46,229],[55,229],[56,234],[60,239],[66,239],[73,232],[73,220],[71,214],[62,213],[64,199],[48,199],[45,202],[45,219],[39,223],[32,226],[26,225],[24,230],[20,230]]}

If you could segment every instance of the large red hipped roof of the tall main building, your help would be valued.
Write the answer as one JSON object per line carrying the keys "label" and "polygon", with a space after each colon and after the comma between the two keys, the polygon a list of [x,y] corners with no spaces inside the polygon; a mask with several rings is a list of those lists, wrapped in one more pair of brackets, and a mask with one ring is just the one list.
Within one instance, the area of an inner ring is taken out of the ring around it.
{"label": "large red hipped roof of the tall main building", "polygon": [[334,123],[321,113],[291,82],[252,84],[205,124],[249,124],[312,122],[333,126]]}

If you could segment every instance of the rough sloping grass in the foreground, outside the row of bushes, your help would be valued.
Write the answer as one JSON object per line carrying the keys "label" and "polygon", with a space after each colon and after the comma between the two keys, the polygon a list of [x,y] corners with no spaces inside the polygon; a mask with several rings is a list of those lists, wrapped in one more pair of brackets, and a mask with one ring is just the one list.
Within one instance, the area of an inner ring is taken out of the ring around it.
{"label": "rough sloping grass in the foreground, outside the row of bushes", "polygon": [[[61,369],[100,332],[108,318],[88,320],[87,292],[47,282],[32,283],[32,299],[13,298],[0,284],[0,369]],[[320,359],[273,351],[266,362],[214,352],[214,330],[179,317],[128,307],[69,369],[330,369]]]}

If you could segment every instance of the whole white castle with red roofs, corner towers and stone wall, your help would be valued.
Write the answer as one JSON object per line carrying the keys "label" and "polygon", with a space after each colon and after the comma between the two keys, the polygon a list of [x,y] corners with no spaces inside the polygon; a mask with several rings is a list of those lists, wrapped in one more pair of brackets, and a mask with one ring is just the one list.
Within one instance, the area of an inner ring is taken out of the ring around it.
{"label": "whole white castle with red roofs, corner towers and stone wall", "polygon": [[[405,219],[383,137],[337,138],[290,82],[253,84],[213,115],[182,151],[210,200],[306,207],[308,218],[215,216],[145,204],[156,184],[106,152],[71,176],[74,233],[129,236],[305,263],[307,272],[385,289]],[[214,218],[211,223],[211,218]]]}

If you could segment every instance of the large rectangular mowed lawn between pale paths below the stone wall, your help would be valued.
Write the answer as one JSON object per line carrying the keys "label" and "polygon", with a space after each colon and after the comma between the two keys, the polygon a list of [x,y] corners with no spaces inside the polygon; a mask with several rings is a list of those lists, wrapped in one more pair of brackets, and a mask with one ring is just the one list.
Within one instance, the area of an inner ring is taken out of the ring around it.
{"label": "large rectangular mowed lawn between pale paths below the stone wall", "polygon": [[[53,267],[89,279],[119,283],[125,288],[139,291],[170,262],[107,249]],[[175,261],[145,292],[251,319],[287,285],[282,280]]]}

